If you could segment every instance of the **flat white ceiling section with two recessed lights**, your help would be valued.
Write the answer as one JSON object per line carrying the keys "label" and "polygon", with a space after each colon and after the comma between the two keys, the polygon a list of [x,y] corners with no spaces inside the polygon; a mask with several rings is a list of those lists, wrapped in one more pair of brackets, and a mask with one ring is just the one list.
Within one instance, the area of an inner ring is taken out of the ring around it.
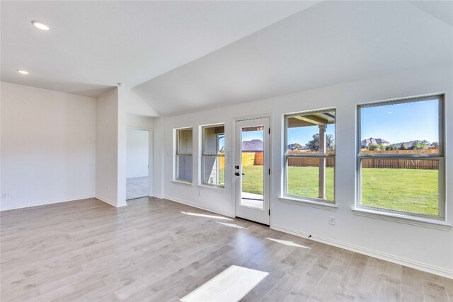
{"label": "flat white ceiling section with two recessed lights", "polygon": [[1,1],[1,80],[88,95],[132,88],[313,4]]}

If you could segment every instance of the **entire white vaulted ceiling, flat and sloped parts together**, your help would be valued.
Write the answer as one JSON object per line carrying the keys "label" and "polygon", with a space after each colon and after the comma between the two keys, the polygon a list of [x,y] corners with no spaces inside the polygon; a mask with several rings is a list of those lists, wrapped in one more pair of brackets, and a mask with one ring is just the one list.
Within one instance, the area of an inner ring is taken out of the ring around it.
{"label": "entire white vaulted ceiling, flat and sloped parts together", "polygon": [[1,1],[2,81],[94,96],[121,82],[161,115],[452,53],[452,1]]}

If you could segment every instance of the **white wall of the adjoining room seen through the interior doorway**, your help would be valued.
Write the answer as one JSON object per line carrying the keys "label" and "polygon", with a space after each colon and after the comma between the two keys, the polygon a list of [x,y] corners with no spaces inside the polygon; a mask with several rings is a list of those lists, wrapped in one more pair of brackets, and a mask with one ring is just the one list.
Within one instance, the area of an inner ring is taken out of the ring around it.
{"label": "white wall of the adjoining room seen through the interior doorway", "polygon": [[149,132],[127,129],[127,178],[148,176]]}

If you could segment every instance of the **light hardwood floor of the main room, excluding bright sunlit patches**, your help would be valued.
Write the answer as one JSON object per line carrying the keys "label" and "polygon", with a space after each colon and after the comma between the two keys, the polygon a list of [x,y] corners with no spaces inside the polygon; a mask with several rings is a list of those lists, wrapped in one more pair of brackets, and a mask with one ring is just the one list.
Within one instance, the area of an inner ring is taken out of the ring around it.
{"label": "light hardwood floor of the main room, excluding bright sunlit patches", "polygon": [[178,301],[239,265],[270,273],[243,301],[453,302],[450,279],[164,199],[128,204],[1,212],[0,300]]}

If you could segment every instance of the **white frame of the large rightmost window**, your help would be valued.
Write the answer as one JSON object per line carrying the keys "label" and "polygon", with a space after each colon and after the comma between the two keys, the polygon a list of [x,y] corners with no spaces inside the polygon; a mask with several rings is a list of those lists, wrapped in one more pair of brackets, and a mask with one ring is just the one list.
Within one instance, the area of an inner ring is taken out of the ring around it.
{"label": "white frame of the large rightmost window", "polygon": [[[361,141],[361,117],[360,117],[360,109],[361,108],[372,108],[372,107],[379,107],[384,105],[394,105],[394,104],[402,104],[402,103],[415,103],[420,102],[423,100],[435,100],[439,101],[439,152],[438,154],[417,154],[417,153],[362,153],[362,141]],[[446,198],[445,198],[445,149],[444,149],[444,142],[445,142],[445,98],[444,95],[429,95],[423,97],[412,97],[412,98],[403,98],[398,100],[385,100],[376,103],[365,103],[357,106],[357,198],[355,203],[355,210],[365,210],[369,211],[370,213],[377,213],[380,215],[386,216],[394,216],[394,217],[401,217],[407,219],[426,219],[427,221],[435,219],[438,221],[445,221],[445,206],[446,206]],[[376,159],[376,158],[385,158],[385,159],[427,159],[432,161],[439,161],[439,187],[438,187],[438,196],[439,196],[439,215],[427,215],[427,214],[419,214],[419,213],[412,213],[408,211],[398,211],[394,209],[384,209],[378,207],[369,207],[362,205],[362,160],[363,159]]]}

